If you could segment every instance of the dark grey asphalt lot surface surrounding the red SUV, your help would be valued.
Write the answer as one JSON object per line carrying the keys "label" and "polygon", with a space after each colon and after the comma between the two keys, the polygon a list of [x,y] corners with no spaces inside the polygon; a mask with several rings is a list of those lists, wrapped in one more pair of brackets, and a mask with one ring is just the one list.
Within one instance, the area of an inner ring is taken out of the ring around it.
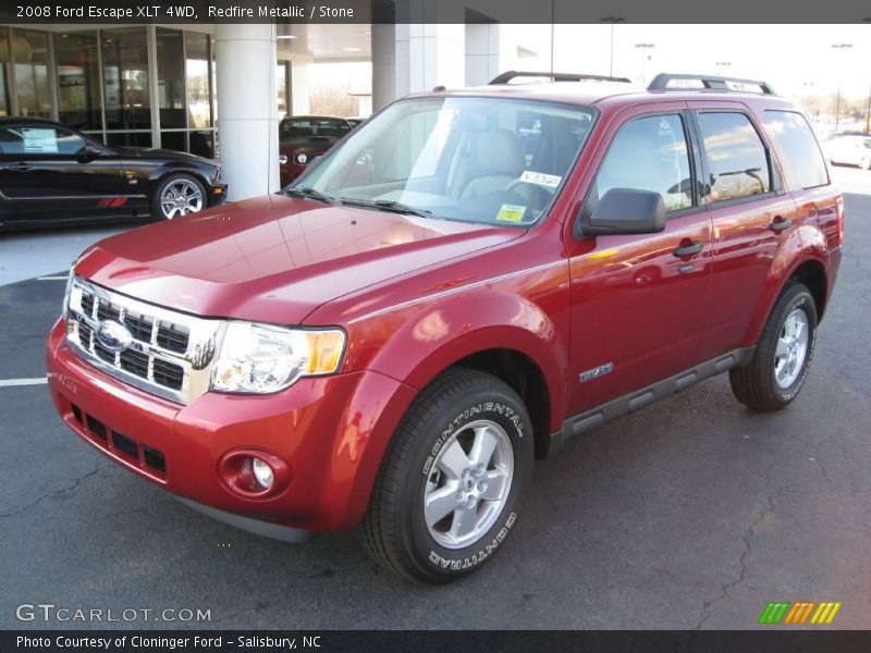
{"label": "dark grey asphalt lot surface surrounding the red SUV", "polygon": [[[0,384],[0,628],[745,629],[770,601],[871,628],[871,173],[837,174],[844,261],[800,397],[753,414],[719,377],[569,442],[506,546],[450,587],[382,571],[354,532],[293,545],[200,516],[81,442],[44,384]],[[62,292],[0,286],[0,383],[45,375]],[[16,618],[38,603],[137,616]]]}

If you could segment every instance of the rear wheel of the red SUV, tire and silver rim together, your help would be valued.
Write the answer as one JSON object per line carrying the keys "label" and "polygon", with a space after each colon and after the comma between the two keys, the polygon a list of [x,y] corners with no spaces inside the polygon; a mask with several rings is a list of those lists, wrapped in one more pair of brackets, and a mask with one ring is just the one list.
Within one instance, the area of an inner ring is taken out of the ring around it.
{"label": "rear wheel of the red SUV, tire and silver rim together", "polygon": [[817,305],[802,284],[781,295],[752,361],[729,370],[732,391],[755,410],[777,410],[798,396],[813,358]]}

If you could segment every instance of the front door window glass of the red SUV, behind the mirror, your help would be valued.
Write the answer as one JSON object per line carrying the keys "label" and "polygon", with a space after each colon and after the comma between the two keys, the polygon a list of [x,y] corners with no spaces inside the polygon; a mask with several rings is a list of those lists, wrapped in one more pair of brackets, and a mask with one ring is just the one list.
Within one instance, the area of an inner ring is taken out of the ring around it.
{"label": "front door window glass of the red SUV, behind the mirror", "polygon": [[619,128],[591,192],[598,200],[612,188],[659,193],[666,211],[692,206],[689,153],[679,115],[639,118]]}

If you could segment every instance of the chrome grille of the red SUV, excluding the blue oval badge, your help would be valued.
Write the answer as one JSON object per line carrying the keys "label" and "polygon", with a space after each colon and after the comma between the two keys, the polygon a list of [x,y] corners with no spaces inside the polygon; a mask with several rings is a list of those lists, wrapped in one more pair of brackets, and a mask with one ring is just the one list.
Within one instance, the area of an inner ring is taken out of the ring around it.
{"label": "chrome grille of the red SUV, excluding the blue oval badge", "polygon": [[[112,352],[97,338],[103,321],[126,326],[133,342]],[[66,311],[72,348],[105,372],[158,396],[189,404],[209,389],[222,322],[195,318],[73,279]]]}

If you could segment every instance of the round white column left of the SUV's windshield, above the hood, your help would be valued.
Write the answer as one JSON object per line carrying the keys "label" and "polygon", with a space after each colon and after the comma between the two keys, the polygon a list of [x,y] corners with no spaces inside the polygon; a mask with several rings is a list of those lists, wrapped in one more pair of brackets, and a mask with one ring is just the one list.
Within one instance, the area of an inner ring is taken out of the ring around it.
{"label": "round white column left of the SUV's windshield, above the hood", "polygon": [[275,26],[216,24],[214,58],[228,198],[272,193],[279,188]]}

